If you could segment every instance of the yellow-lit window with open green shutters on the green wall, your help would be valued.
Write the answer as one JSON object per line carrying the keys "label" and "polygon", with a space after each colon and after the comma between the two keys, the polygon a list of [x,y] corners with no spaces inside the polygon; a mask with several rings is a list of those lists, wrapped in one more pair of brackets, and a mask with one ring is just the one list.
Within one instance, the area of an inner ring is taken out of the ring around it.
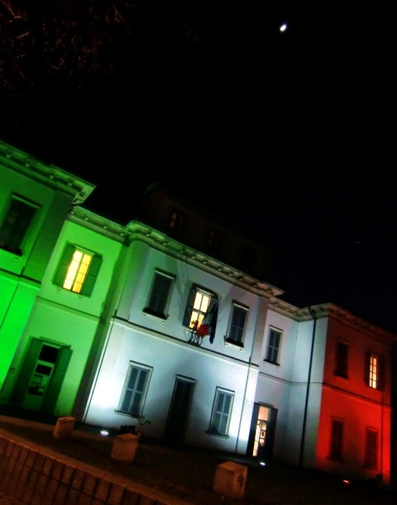
{"label": "yellow-lit window with open green shutters on the green wall", "polygon": [[67,244],[53,283],[69,291],[90,296],[93,292],[102,257],[76,245]]}

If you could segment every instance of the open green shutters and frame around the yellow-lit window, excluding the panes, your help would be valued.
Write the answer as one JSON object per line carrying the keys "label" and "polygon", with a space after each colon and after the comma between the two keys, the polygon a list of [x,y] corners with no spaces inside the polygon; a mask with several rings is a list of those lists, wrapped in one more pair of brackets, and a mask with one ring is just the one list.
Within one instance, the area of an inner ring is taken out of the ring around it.
{"label": "open green shutters and frame around the yellow-lit window, excluding the panes", "polygon": [[[88,254],[91,256],[91,261],[86,271],[86,274],[81,285],[81,290],[79,292],[73,291],[72,289],[65,288],[65,281],[67,278],[67,272],[69,270],[70,264],[73,260],[74,253],[79,251],[83,254]],[[74,243],[67,243],[60,257],[58,267],[55,269],[55,274],[53,276],[53,284],[57,285],[58,288],[62,290],[74,293],[74,295],[90,297],[93,293],[93,289],[97,282],[97,276],[100,272],[100,267],[102,265],[102,255],[94,253],[91,250],[80,247]]]}

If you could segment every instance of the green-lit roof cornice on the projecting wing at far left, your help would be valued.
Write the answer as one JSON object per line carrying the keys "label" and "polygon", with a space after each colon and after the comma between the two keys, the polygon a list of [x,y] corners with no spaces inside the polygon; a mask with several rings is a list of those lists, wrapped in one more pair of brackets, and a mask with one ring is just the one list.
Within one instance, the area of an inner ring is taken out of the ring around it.
{"label": "green-lit roof cornice on the projecting wing at far left", "polygon": [[86,182],[54,165],[46,165],[33,156],[11,147],[0,140],[0,166],[11,168],[17,173],[25,175],[72,197],[73,203],[83,203],[93,192],[95,185]]}

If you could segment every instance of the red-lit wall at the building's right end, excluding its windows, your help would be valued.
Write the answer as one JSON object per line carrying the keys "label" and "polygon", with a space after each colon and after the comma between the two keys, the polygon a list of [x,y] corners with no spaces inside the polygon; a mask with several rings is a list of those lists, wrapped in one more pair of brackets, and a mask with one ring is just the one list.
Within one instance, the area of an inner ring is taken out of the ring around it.
{"label": "red-lit wall at the building's right end, excluding its windows", "polygon": [[[348,345],[347,377],[335,375],[338,340]],[[382,389],[373,389],[365,380],[365,356],[382,356],[384,381]],[[361,478],[377,478],[387,483],[390,478],[390,356],[391,343],[382,335],[361,331],[349,323],[330,318],[325,350],[323,394],[316,467],[334,473],[349,473]],[[342,461],[330,459],[332,419],[343,422]],[[366,430],[378,433],[377,466],[365,467]]]}

